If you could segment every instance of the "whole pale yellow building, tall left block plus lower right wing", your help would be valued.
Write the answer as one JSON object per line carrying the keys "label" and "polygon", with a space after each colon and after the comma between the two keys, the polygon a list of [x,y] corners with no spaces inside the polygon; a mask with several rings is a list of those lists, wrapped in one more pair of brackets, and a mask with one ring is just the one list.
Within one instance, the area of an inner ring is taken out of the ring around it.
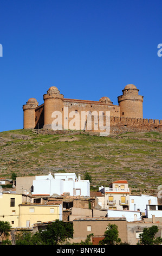
{"label": "whole pale yellow building, tall left block plus lower right wing", "polygon": [[1,193],[0,221],[8,221],[12,228],[22,228],[62,220],[62,204],[31,204],[30,199],[23,194]]}

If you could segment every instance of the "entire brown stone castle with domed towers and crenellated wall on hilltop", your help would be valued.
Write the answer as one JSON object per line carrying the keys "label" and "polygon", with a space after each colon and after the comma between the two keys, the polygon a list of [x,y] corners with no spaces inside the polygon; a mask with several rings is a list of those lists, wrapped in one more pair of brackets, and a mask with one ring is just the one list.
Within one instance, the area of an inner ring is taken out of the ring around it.
{"label": "entire brown stone castle with domed towers and crenellated wall on hilltop", "polygon": [[[60,91],[52,86],[48,89],[47,94],[43,95],[44,103],[38,106],[35,98],[30,98],[23,105],[24,112],[24,129],[43,129],[51,130],[51,124],[54,121],[53,112],[62,113],[62,129],[68,130],[68,124],[73,117],[67,117],[64,109],[68,112],[81,115],[86,112],[88,114],[97,113],[98,117],[102,115],[103,124],[106,122],[106,113],[109,112],[110,133],[124,133],[130,131],[162,131],[162,120],[143,119],[142,103],[144,96],[139,95],[139,89],[133,84],[128,84],[122,90],[122,95],[118,96],[119,105],[114,105],[113,102],[106,96],[101,97],[99,101],[91,100],[76,100],[66,99]],[[93,122],[92,122],[93,123]],[[96,127],[96,126],[95,126]],[[57,130],[60,130],[59,128]],[[87,130],[87,119],[85,125],[81,124],[77,130]],[[92,125],[94,132],[94,125]],[[100,132],[100,127],[95,132]]]}

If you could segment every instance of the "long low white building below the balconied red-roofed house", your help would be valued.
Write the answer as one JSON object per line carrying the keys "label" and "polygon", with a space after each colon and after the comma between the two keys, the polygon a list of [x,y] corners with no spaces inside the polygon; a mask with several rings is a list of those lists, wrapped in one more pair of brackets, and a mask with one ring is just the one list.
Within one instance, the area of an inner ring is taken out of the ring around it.
{"label": "long low white building below the balconied red-roofed house", "polygon": [[128,222],[141,221],[141,212],[125,210],[107,210],[108,218],[126,218]]}

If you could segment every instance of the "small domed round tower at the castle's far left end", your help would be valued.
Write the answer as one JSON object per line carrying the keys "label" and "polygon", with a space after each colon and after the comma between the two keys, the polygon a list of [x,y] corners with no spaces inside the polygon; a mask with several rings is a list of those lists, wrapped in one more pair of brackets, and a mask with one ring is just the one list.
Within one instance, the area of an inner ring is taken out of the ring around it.
{"label": "small domed round tower at the castle's far left end", "polygon": [[35,128],[35,108],[38,102],[35,98],[30,98],[26,105],[23,105],[24,112],[24,129]]}

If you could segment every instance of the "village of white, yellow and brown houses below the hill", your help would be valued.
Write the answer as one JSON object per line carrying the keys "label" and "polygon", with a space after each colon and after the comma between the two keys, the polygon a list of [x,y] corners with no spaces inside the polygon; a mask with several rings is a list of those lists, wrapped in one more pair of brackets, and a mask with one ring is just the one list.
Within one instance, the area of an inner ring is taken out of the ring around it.
{"label": "village of white, yellow and brown houses below the hill", "polygon": [[127,180],[90,191],[91,179],[89,173],[81,179],[80,174],[51,172],[1,178],[0,221],[10,223],[12,244],[21,230],[37,233],[58,220],[73,225],[73,236],[67,237],[73,245],[82,244],[88,236],[91,245],[98,245],[109,225],[115,225],[127,245],[137,245],[144,228],[156,225],[157,235],[161,234],[161,186],[157,196],[131,193]]}

